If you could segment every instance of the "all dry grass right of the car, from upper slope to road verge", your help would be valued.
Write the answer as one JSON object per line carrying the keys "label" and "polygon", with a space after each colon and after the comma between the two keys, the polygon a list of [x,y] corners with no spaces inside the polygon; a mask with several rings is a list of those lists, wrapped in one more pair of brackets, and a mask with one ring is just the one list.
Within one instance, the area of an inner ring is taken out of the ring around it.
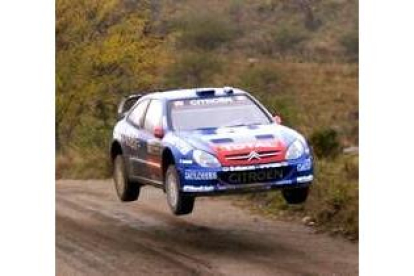
{"label": "all dry grass right of the car, from upper slope to road verge", "polygon": [[[234,59],[236,60],[236,59]],[[228,63],[225,70],[236,86],[245,71],[264,67],[276,72],[263,91],[250,90],[271,112],[287,117],[287,124],[306,137],[333,128],[342,147],[358,145],[358,65],[280,63],[246,59]],[[227,80],[227,81],[228,81]],[[224,79],[216,80],[218,84]],[[260,83],[260,82],[259,82]],[[267,90],[266,90],[267,87]],[[242,87],[245,88],[245,87]],[[288,104],[281,103],[287,102]],[[283,219],[310,216],[317,229],[358,239],[358,155],[339,154],[315,160],[315,178],[308,201],[299,206],[285,203],[279,192],[248,196],[254,208]]]}

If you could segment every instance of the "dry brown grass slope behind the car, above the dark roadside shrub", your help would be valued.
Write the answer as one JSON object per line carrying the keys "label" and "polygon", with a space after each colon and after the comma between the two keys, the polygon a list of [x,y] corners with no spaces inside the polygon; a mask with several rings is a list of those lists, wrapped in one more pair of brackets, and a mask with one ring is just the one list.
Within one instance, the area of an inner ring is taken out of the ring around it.
{"label": "dry brown grass slope behind the car, above the dark roadside shrub", "polygon": [[[215,79],[216,85],[244,88],[273,113],[280,113],[275,99],[288,99],[295,113],[289,123],[306,136],[315,129],[330,127],[339,133],[344,146],[358,144],[357,64],[281,63],[269,59],[258,59],[251,64],[246,58],[228,56],[224,62],[226,74]],[[267,90],[251,90],[246,87],[243,76],[245,71],[255,68],[274,71],[278,78]],[[291,114],[280,115],[283,119]]]}

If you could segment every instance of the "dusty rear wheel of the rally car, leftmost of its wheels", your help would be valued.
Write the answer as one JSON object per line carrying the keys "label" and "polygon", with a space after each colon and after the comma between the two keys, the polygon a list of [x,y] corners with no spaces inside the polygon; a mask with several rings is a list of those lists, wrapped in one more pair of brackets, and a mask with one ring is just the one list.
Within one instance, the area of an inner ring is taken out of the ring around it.
{"label": "dusty rear wheel of the rally car, leftmost of its wheels", "polygon": [[115,157],[113,179],[116,194],[121,201],[135,201],[138,199],[141,185],[129,180],[122,155]]}

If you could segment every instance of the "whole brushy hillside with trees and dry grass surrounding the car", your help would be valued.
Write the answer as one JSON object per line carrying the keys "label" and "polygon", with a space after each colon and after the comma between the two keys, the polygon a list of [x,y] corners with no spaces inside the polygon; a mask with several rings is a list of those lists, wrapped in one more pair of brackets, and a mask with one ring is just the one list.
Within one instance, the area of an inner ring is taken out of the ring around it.
{"label": "whole brushy hillside with trees and dry grass surrounding the car", "polygon": [[[58,178],[110,176],[116,105],[132,91],[234,86],[310,138],[317,180],[300,207],[277,193],[261,211],[309,216],[358,235],[358,1],[57,0]],[[249,198],[251,200],[252,198]]]}

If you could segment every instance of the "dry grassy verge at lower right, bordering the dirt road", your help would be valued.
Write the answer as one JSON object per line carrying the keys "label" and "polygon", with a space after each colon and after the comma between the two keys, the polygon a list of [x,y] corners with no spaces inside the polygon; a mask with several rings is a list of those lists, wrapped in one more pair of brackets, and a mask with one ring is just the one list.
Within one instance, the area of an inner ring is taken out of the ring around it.
{"label": "dry grassy verge at lower right, bordering the dirt road", "polygon": [[[284,220],[309,217],[319,231],[358,239],[358,156],[316,161],[316,180],[308,200],[288,205],[280,192],[246,196],[253,210]],[[246,205],[244,203],[243,205]]]}

